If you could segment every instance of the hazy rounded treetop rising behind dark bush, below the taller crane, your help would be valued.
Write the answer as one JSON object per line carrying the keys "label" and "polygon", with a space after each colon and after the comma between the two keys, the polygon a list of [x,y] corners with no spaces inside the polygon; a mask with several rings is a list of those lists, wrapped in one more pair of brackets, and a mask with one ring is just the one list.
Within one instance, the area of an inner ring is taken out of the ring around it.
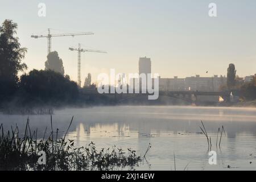
{"label": "hazy rounded treetop rising behind dark bush, below the taller crane", "polygon": [[46,65],[46,70],[52,70],[64,76],[63,61],[62,59],[60,59],[57,51],[50,52],[48,54],[45,65]]}

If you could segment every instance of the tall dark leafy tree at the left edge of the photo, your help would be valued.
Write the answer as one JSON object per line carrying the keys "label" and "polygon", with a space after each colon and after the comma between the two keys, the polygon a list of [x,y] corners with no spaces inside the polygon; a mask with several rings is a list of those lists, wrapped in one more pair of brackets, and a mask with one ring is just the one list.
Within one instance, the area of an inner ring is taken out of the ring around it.
{"label": "tall dark leafy tree at the left edge of the photo", "polygon": [[0,26],[0,101],[7,100],[16,92],[18,72],[27,69],[22,63],[27,49],[20,47],[15,37],[18,25],[6,19]]}

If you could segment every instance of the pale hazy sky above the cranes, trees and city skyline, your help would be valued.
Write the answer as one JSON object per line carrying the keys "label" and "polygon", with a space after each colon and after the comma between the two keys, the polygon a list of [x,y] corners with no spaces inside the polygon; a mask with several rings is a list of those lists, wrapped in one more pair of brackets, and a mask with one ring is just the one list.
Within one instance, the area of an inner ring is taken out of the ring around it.
{"label": "pale hazy sky above the cranes, trees and city skyline", "polygon": [[[46,17],[38,4],[46,4]],[[217,4],[210,18],[208,5]],[[77,80],[77,52],[69,47],[101,49],[108,54],[82,53],[82,83],[88,72],[93,81],[101,72],[138,72],[139,57],[152,60],[152,72],[162,77],[224,75],[234,63],[239,76],[256,73],[256,1],[235,0],[0,0],[0,22],[13,19],[18,36],[28,48],[24,62],[44,69],[47,39],[30,36],[93,31],[95,35],[52,39],[65,73]],[[206,71],[209,71],[207,74]]]}

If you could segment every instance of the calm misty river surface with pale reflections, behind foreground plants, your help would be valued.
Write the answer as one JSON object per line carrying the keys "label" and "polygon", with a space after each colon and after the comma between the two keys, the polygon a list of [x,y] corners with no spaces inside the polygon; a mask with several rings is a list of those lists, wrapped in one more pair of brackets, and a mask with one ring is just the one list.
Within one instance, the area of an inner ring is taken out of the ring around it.
{"label": "calm misty river surface with pale reflections, behind foreground plants", "polygon": [[[53,127],[67,129],[74,115],[68,138],[77,146],[93,141],[98,149],[117,146],[137,150],[144,155],[151,150],[137,170],[256,170],[256,109],[229,107],[113,106],[56,110]],[[18,124],[24,129],[27,116],[2,115],[5,127]],[[50,127],[49,115],[31,115],[33,129]],[[200,134],[201,120],[212,137],[217,165],[208,163],[208,144]],[[216,147],[218,127],[225,127],[221,148]],[[251,162],[251,164],[250,164]],[[231,168],[228,168],[230,166]]]}

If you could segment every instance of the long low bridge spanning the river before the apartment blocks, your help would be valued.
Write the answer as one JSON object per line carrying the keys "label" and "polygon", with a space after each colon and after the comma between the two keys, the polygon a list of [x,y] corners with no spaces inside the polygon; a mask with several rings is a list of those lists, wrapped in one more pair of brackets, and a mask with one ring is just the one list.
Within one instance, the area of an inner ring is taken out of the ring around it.
{"label": "long low bridge spanning the river before the apartment blocks", "polygon": [[[232,91],[159,91],[159,96],[167,96],[171,98],[176,98],[178,100],[183,100],[185,102],[188,102],[190,104],[194,104],[197,102],[199,96],[219,96],[221,97],[225,102],[229,102],[230,100],[230,94]],[[88,97],[109,97],[113,98],[115,102],[123,102],[126,100],[135,99],[137,97],[141,96],[150,96],[154,94],[149,93],[103,93],[100,94],[96,90],[82,90],[82,94],[84,96]]]}

